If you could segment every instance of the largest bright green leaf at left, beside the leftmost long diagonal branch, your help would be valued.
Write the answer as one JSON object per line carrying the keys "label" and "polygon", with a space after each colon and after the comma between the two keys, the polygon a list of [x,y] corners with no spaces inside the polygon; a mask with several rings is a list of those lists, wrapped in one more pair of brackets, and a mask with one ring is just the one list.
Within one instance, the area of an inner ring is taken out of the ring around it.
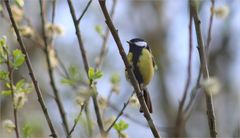
{"label": "largest bright green leaf at left, beside the leftmost long diagonal branch", "polygon": [[22,53],[21,50],[16,49],[13,51],[13,66],[17,69],[21,66],[25,61],[25,55]]}

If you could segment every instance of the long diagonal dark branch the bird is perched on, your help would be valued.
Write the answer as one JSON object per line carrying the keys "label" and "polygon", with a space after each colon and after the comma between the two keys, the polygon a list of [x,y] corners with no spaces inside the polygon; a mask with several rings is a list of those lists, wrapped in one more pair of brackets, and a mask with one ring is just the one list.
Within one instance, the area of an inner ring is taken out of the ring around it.
{"label": "long diagonal dark branch the bird is perched on", "polygon": [[125,64],[125,67],[127,69],[127,72],[128,72],[128,75],[129,75],[129,79],[131,81],[131,84],[133,85],[134,87],[134,91],[136,92],[137,94],[137,97],[138,97],[138,100],[140,102],[140,105],[143,109],[143,112],[144,112],[144,117],[146,118],[147,122],[148,122],[148,125],[152,131],[152,134],[154,135],[154,137],[160,137],[158,131],[157,131],[157,128],[155,127],[154,125],[154,122],[151,118],[151,115],[149,113],[149,110],[147,108],[147,105],[145,103],[145,100],[143,98],[143,95],[142,95],[142,92],[140,90],[140,87],[138,85],[138,82],[135,78],[135,75],[133,73],[133,70],[131,68],[131,65],[129,64],[128,62],[128,59],[127,59],[127,56],[126,56],[126,53],[123,49],[123,46],[122,46],[122,43],[121,43],[121,40],[118,36],[118,31],[116,30],[116,28],[114,27],[113,25],[113,22],[111,20],[111,17],[107,11],[107,7],[106,7],[106,1],[105,0],[99,0],[99,4],[101,6],[101,9],[102,9],[102,12],[105,16],[105,19],[106,19],[106,24],[108,25],[108,28],[110,29],[111,33],[112,33],[112,36],[117,44],[117,47],[118,47],[118,50],[119,50],[119,53],[123,59],[123,62]]}

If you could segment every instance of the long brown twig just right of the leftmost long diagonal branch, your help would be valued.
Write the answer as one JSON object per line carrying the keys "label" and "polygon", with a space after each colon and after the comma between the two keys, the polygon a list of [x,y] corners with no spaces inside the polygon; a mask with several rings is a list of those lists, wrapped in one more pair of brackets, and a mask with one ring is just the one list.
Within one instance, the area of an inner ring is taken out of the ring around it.
{"label": "long brown twig just right of the leftmost long diagonal branch", "polygon": [[57,89],[57,86],[55,84],[55,78],[53,75],[53,69],[52,69],[52,64],[51,64],[51,60],[50,60],[50,56],[49,56],[49,45],[48,45],[48,38],[46,35],[46,31],[45,31],[45,26],[46,26],[46,21],[45,21],[45,13],[44,13],[44,9],[43,9],[43,0],[39,0],[39,4],[40,4],[40,11],[41,11],[41,22],[42,22],[42,37],[43,37],[43,41],[44,41],[44,53],[46,56],[46,61],[47,61],[47,68],[48,68],[48,75],[49,75],[49,79],[50,79],[50,85],[51,88],[53,90],[54,96],[55,96],[55,101],[57,103],[62,121],[63,121],[63,126],[64,126],[64,130],[66,132],[66,134],[69,133],[69,128],[68,128],[68,123],[67,123],[67,117],[66,117],[66,113],[64,111],[64,107],[63,107],[63,103],[60,99],[59,96],[59,91]]}

